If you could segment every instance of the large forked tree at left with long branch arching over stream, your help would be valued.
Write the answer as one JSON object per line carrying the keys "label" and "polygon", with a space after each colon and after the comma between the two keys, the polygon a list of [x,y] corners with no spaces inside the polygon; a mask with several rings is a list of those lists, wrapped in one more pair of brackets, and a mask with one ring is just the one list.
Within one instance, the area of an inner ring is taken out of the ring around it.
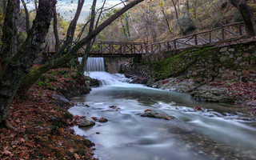
{"label": "large forked tree at left with long branch arching over stream", "polygon": [[[110,25],[111,22],[114,22],[114,20],[125,13],[126,10],[130,10],[130,8],[142,1],[143,0],[135,0],[130,2],[121,10],[113,14],[110,18],[106,19],[105,22],[102,22],[101,25],[90,32],[90,34],[88,34],[85,38],[82,38],[82,40],[72,46],[70,50],[64,50],[62,54],[59,54],[60,56],[52,58],[49,62],[46,62],[46,64],[37,70],[29,71],[33,65],[34,59],[37,57],[37,54],[45,41],[51,19],[54,15],[54,7],[56,4],[56,0],[39,0],[36,18],[33,22],[32,28],[30,29],[28,37],[26,38],[26,41],[14,54],[14,57],[10,58],[10,61],[6,62],[6,68],[0,72],[0,126],[10,126],[8,125],[7,121],[7,118],[9,117],[10,102],[25,76],[26,79],[23,80],[23,84],[26,82],[26,80],[28,80],[29,83],[27,86],[31,86],[31,84],[34,84],[34,82],[36,82],[42,74],[46,73],[46,71],[66,64],[67,62],[70,62],[72,58],[77,58],[77,52],[80,48],[82,48],[82,46],[85,46],[91,42],[91,40],[95,38],[106,26]],[[12,6],[15,4],[15,2],[16,0],[9,1]],[[19,1],[17,0],[17,2]],[[7,14],[12,15],[12,13],[8,11],[8,6],[6,15]],[[3,41],[3,43],[6,44],[6,41]],[[70,44],[67,47],[69,46]],[[2,59],[2,54],[0,58]]]}

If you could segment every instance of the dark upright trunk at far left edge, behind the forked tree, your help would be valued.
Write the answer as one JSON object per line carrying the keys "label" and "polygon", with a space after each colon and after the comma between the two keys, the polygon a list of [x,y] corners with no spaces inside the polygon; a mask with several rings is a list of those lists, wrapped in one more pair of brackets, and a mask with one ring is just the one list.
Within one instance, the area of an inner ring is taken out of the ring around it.
{"label": "dark upright trunk at far left edge, behind the forked tree", "polygon": [[[5,70],[6,65],[14,56],[18,46],[17,20],[20,10],[19,0],[8,2],[6,18],[2,27],[2,49],[0,52],[0,73]],[[8,13],[8,14],[7,14]]]}

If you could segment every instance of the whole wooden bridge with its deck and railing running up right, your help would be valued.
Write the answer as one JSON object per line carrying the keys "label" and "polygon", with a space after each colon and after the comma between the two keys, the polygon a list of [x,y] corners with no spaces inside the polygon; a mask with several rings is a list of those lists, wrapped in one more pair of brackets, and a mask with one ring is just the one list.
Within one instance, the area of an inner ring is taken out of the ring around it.
{"label": "whole wooden bridge with its deck and railing running up right", "polygon": [[[236,22],[220,26],[214,30],[190,34],[182,38],[175,38],[166,42],[151,44],[145,44],[143,42],[95,42],[90,50],[90,56],[141,57],[142,54],[156,54],[161,51],[178,50],[191,46],[212,45],[216,42],[232,38],[241,38],[244,36],[246,36],[244,22]],[[84,53],[85,48],[86,46],[83,46],[79,52]]]}

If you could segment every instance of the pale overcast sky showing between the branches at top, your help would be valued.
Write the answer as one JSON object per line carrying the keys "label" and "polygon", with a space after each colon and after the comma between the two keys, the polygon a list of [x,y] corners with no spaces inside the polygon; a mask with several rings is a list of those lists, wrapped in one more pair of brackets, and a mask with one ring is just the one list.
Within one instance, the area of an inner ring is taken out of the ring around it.
{"label": "pale overcast sky showing between the branches at top", "polygon": [[[57,3],[57,12],[63,16],[63,18],[66,18],[67,20],[71,20],[74,17],[75,10],[78,6],[78,0],[74,0],[73,3],[71,3],[71,0],[58,0]],[[96,8],[100,8],[102,6],[102,0],[98,0]],[[106,1],[106,7],[114,6],[118,3],[120,3],[120,0],[107,0]],[[80,18],[78,19],[78,22],[86,22],[86,17],[90,13],[90,7],[92,4],[92,0],[86,0],[84,3],[84,6],[82,8],[82,12],[80,15]],[[28,3],[27,7],[29,10],[34,9],[34,4]],[[23,7],[22,7],[23,8]]]}

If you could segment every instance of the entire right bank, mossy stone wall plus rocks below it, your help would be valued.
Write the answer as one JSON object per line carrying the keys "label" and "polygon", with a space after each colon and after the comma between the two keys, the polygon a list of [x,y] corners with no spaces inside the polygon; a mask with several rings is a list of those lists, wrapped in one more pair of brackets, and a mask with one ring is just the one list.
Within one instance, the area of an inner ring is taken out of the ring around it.
{"label": "entire right bank, mossy stone wall plus rocks below it", "polygon": [[206,102],[256,107],[256,40],[144,55],[122,66],[130,82],[187,92]]}

